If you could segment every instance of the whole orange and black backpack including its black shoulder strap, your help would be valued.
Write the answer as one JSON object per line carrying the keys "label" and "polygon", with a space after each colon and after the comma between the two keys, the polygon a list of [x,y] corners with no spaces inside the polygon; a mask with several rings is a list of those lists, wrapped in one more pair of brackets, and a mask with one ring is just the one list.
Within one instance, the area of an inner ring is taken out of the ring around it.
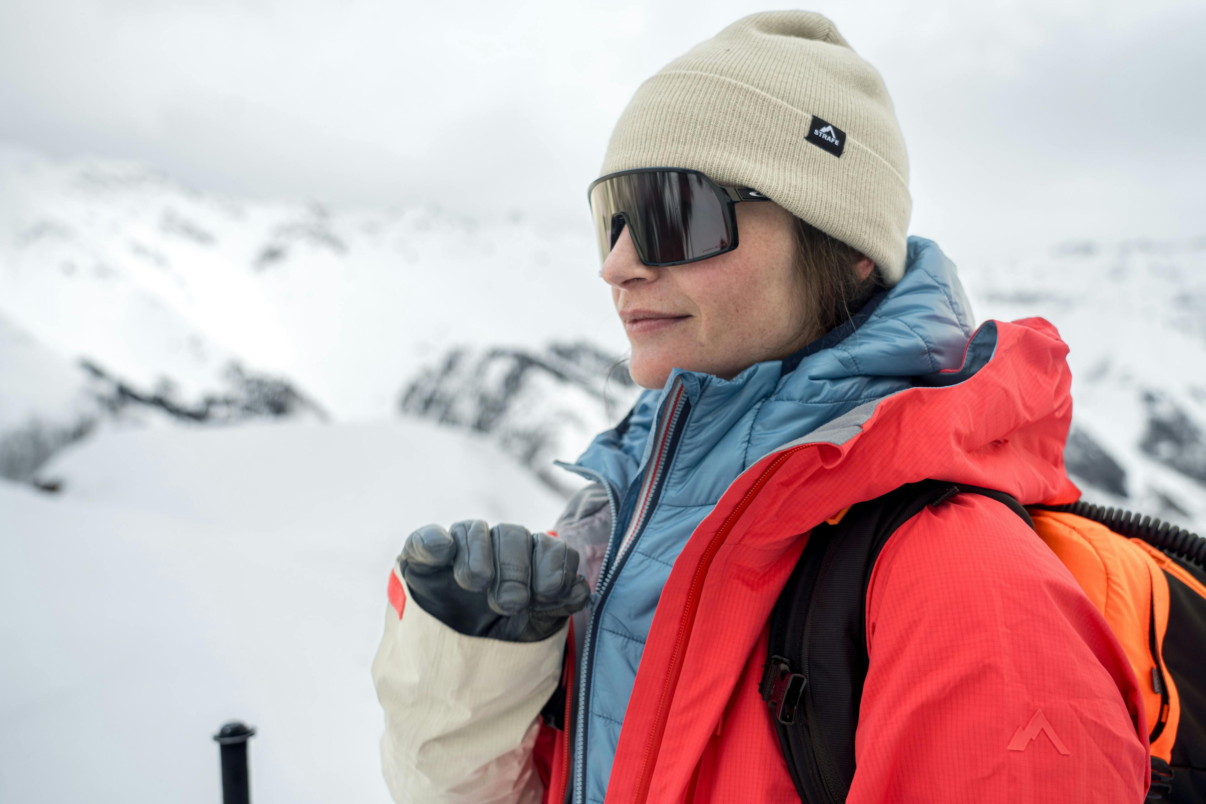
{"label": "whole orange and black backpack including its black shoulder strap", "polygon": [[1148,711],[1159,712],[1148,800],[1206,804],[1206,539],[1126,511],[1025,509],[1003,492],[936,480],[813,528],[771,614],[760,692],[801,800],[839,804],[854,780],[876,559],[901,524],[960,493],[996,499],[1034,528],[1114,630]]}

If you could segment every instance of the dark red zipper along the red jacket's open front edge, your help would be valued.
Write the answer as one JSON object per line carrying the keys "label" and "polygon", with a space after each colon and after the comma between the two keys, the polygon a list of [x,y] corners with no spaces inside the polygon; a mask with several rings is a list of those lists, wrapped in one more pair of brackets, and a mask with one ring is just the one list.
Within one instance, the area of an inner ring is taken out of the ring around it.
{"label": "dark red zipper along the red jacket's open front edge", "polygon": [[[779,471],[779,468],[786,463],[794,453],[810,446],[802,444],[800,446],[785,450],[775,456],[774,460],[762,470],[759,479],[754,482],[745,495],[742,497],[740,503],[737,507],[725,518],[725,522],[716,530],[716,534],[708,542],[708,547],[703,551],[703,556],[699,557],[699,563],[696,565],[695,576],[691,579],[691,587],[687,589],[686,605],[683,609],[683,616],[679,620],[678,636],[674,639],[674,650],[671,652],[671,663],[667,668],[666,680],[662,682],[662,694],[657,700],[657,712],[654,716],[654,728],[649,733],[649,738],[645,740],[645,750],[640,757],[640,769],[637,771],[637,794],[633,797],[633,804],[644,804],[649,799],[649,786],[652,782],[654,765],[657,762],[657,753],[662,747],[662,738],[666,734],[666,721],[669,716],[669,704],[671,699],[674,697],[674,689],[678,686],[679,674],[683,670],[683,656],[686,652],[687,642],[691,638],[691,629],[695,626],[696,610],[699,606],[699,592],[703,588],[703,580],[708,575],[708,570],[712,568],[712,561],[716,557],[716,552],[720,546],[725,544],[728,534],[732,532],[737,521],[749,507],[750,503],[762,487],[766,486],[767,481],[774,473]],[[579,716],[581,712],[579,712]]]}

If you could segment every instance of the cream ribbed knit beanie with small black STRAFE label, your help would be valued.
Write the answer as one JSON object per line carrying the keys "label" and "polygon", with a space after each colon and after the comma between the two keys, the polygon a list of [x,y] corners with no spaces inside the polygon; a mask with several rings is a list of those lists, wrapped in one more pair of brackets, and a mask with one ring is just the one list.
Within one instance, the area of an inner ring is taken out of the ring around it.
{"label": "cream ribbed knit beanie with small black STRAFE label", "polygon": [[825,17],[739,19],[637,89],[603,174],[689,168],[751,187],[857,248],[889,284],[904,275],[908,158],[876,69]]}

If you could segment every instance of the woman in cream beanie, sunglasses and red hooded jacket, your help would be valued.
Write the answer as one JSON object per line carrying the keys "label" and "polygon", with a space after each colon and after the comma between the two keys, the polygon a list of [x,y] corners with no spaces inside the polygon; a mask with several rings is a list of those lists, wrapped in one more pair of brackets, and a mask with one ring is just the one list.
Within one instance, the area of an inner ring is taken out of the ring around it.
{"label": "woman in cream beanie, sunglasses and red hooded jacket", "polygon": [[[954,266],[906,240],[883,82],[827,19],[755,14],[671,63],[603,174],[602,277],[648,391],[567,466],[591,486],[560,538],[406,540],[373,668],[398,802],[798,800],[759,682],[808,532],[926,477],[1077,497],[1066,347],[1040,319],[973,338]],[[848,800],[1143,798],[1125,655],[1001,503],[909,520],[866,612]]]}

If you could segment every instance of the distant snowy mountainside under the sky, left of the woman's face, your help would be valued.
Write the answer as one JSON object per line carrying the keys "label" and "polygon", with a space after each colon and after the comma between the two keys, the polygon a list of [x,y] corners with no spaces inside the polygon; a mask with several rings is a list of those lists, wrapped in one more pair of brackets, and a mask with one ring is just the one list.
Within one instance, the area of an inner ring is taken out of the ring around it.
{"label": "distant snowy mountainside under the sky, left of the woman's face", "polygon": [[0,315],[141,386],[206,391],[238,360],[340,418],[388,413],[451,346],[620,353],[586,237],[434,207],[236,203],[142,165],[0,147]]}

